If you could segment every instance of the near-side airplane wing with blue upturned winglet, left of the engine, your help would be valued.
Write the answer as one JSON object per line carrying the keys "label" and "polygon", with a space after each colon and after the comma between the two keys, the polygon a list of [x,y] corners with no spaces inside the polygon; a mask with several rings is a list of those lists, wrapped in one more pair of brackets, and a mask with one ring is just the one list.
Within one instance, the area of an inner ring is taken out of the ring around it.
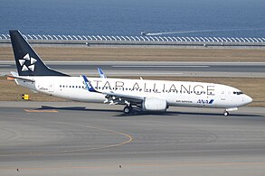
{"label": "near-side airplane wing with blue upturned winglet, left of the engine", "polygon": [[86,78],[86,76],[82,75],[85,85],[87,87],[87,89],[90,92],[96,92],[96,93],[100,93],[100,94],[104,94],[106,95],[106,99],[104,101],[104,103],[109,103],[109,105],[130,105],[130,104],[140,104],[145,97],[139,97],[139,96],[134,96],[134,95],[128,95],[128,94],[120,94],[117,92],[114,92],[112,90],[110,91],[100,91],[100,90],[96,90],[95,88],[92,87],[92,85],[90,84],[89,79]]}

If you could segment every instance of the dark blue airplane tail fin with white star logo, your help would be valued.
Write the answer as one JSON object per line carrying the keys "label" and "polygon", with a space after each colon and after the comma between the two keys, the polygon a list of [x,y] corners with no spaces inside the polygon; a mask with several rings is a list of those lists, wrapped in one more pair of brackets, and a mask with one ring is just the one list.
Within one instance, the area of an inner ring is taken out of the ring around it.
{"label": "dark blue airplane tail fin with white star logo", "polygon": [[48,68],[19,31],[9,33],[19,76],[69,76]]}

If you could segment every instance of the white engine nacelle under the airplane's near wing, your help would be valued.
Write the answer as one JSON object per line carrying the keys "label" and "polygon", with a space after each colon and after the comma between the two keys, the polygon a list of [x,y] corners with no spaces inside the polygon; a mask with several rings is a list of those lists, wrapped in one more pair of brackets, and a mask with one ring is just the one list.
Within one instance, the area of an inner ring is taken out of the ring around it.
{"label": "white engine nacelle under the airplane's near wing", "polygon": [[166,111],[167,103],[165,99],[147,97],[142,104],[145,111]]}

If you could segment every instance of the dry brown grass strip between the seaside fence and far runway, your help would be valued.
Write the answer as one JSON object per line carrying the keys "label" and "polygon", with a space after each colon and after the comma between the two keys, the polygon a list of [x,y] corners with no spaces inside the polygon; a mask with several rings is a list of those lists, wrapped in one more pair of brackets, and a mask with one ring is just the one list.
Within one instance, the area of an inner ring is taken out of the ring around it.
{"label": "dry brown grass strip between the seaside fence and far runway", "polygon": [[[264,62],[264,48],[34,47],[43,60]],[[0,60],[14,60],[11,44],[0,47]]]}

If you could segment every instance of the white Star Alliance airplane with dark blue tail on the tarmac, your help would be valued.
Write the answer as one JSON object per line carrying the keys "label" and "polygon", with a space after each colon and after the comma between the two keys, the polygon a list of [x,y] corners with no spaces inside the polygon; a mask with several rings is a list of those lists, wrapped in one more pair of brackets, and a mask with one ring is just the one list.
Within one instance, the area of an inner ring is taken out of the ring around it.
{"label": "white Star Alliance airplane with dark blue tail on the tarmac", "polygon": [[223,115],[250,104],[252,98],[238,88],[214,83],[152,79],[111,79],[102,69],[99,78],[71,77],[45,65],[21,32],[10,30],[17,73],[17,85],[53,97],[73,101],[124,106],[125,114],[134,109],[166,112],[168,107],[210,107],[224,109]]}

